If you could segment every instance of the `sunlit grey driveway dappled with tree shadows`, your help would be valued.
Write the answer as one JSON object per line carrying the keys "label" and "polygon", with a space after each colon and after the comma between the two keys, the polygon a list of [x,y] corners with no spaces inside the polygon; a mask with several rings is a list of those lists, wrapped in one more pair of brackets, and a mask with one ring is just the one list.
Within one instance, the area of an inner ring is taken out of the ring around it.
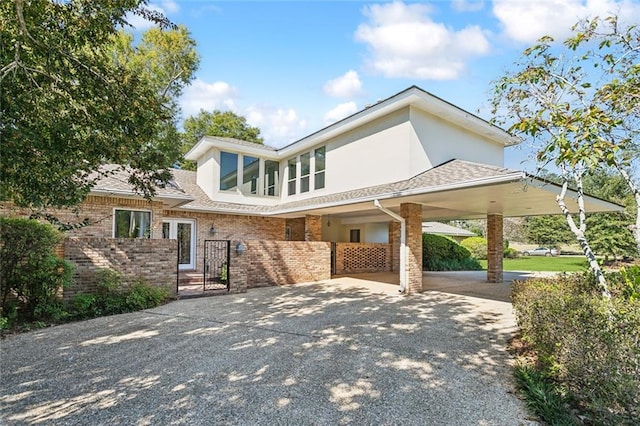
{"label": "sunlit grey driveway dappled with tree shadows", "polygon": [[10,336],[0,423],[533,423],[508,302],[397,289],[344,277]]}

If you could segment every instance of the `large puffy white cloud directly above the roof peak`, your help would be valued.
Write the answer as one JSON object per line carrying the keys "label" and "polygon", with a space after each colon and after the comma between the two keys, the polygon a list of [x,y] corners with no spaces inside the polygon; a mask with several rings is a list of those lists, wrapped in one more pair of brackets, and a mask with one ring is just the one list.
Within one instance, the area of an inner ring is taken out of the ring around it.
{"label": "large puffy white cloud directly above the roof peak", "polygon": [[364,9],[367,23],[355,38],[369,46],[369,66],[386,77],[451,80],[458,78],[473,56],[489,51],[482,29],[456,31],[429,17],[424,4],[395,2]]}

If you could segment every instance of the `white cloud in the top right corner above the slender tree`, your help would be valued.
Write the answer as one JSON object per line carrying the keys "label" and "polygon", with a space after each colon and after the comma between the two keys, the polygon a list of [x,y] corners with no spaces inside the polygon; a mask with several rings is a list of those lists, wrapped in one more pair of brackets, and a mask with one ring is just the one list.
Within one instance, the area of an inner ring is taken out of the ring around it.
{"label": "white cloud in the top right corner above the slender tree", "polygon": [[595,16],[617,14],[623,22],[637,22],[640,3],[629,0],[494,0],[493,13],[509,38],[531,43],[543,35],[564,39],[578,20]]}

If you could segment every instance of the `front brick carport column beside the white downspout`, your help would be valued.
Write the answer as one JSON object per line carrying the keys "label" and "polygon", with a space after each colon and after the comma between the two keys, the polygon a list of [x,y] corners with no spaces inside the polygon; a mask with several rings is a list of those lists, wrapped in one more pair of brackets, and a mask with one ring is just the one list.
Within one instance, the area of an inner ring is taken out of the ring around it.
{"label": "front brick carport column beside the white downspout", "polygon": [[407,226],[407,293],[422,292],[422,206],[400,204]]}

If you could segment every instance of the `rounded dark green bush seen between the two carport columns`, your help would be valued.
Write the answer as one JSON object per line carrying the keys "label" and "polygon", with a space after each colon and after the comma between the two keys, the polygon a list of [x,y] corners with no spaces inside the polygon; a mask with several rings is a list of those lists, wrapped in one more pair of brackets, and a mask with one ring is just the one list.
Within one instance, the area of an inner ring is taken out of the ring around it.
{"label": "rounded dark green bush seen between the two carport columns", "polygon": [[422,234],[422,269],[425,271],[481,270],[469,250],[442,235]]}

